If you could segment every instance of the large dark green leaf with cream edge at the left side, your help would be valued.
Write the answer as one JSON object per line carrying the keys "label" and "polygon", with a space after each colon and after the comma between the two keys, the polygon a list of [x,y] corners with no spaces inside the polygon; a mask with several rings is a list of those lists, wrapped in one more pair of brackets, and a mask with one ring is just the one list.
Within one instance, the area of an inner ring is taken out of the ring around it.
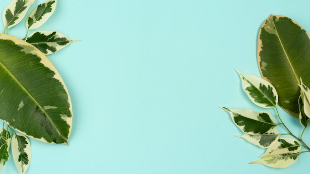
{"label": "large dark green leaf with cream edge at the left side", "polygon": [[0,119],[35,139],[68,144],[70,96],[50,60],[36,47],[0,35]]}

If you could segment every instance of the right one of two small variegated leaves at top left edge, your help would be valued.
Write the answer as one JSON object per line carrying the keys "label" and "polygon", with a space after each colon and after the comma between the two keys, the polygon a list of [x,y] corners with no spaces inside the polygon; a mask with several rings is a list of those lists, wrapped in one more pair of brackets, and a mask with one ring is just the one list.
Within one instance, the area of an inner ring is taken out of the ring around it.
{"label": "right one of two small variegated leaves at top left edge", "polygon": [[56,4],[56,0],[47,0],[34,8],[26,18],[26,27],[28,30],[41,27],[52,16]]}

